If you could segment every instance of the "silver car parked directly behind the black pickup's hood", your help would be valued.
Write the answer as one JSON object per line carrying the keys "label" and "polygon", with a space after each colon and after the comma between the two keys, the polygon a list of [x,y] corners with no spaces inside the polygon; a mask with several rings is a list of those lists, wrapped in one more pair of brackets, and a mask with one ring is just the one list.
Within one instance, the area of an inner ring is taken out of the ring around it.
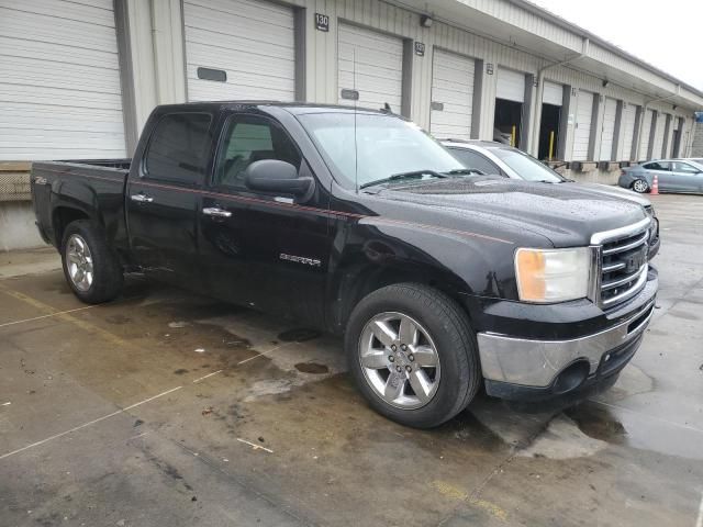
{"label": "silver car parked directly behind the black pickup's hood", "polygon": [[481,173],[494,173],[512,179],[523,179],[553,184],[578,184],[593,192],[612,195],[623,200],[635,202],[645,208],[651,217],[651,232],[649,239],[649,258],[654,258],[659,253],[659,220],[657,213],[647,198],[633,194],[617,187],[590,183],[584,181],[573,181],[567,179],[550,167],[535,159],[528,154],[491,141],[464,141],[464,139],[442,139],[442,144],[454,157],[459,159],[467,168],[479,170]]}

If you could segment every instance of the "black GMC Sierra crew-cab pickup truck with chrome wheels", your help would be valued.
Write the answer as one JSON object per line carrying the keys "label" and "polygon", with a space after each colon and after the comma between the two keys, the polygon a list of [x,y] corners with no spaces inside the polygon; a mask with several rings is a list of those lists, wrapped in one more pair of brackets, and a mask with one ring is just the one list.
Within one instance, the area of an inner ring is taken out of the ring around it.
{"label": "black GMC Sierra crew-cab pickup truck with chrome wheels", "polygon": [[141,270],[344,334],[371,406],[416,427],[481,385],[522,401],[611,385],[657,292],[640,205],[477,175],[384,112],[159,106],[131,161],[35,162],[32,193],[79,299]]}

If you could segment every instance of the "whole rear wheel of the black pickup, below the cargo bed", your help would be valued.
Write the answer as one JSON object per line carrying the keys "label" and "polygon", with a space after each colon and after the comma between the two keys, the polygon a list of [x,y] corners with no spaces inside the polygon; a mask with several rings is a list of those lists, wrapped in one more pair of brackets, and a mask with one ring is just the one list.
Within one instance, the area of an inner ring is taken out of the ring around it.
{"label": "whole rear wheel of the black pickup, below the cargo bed", "polygon": [[60,247],[64,276],[74,294],[88,304],[108,302],[122,290],[122,265],[108,245],[104,229],[77,220],[64,231]]}

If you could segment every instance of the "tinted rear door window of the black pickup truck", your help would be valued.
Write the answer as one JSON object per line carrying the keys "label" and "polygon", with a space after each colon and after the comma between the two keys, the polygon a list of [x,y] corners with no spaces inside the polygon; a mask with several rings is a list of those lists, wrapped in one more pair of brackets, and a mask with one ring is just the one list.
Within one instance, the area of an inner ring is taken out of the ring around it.
{"label": "tinted rear door window of the black pickup truck", "polygon": [[164,115],[152,134],[144,156],[148,179],[201,184],[212,144],[208,113]]}

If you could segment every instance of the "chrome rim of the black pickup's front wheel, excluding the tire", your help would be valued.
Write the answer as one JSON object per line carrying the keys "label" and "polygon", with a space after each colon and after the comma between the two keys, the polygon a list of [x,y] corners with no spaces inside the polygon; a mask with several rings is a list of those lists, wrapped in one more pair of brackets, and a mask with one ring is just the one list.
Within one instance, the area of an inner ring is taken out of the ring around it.
{"label": "chrome rim of the black pickup's front wheel, excluding the tire", "polygon": [[427,329],[402,313],[380,313],[366,324],[359,362],[376,394],[398,408],[420,408],[437,393],[437,348]]}

